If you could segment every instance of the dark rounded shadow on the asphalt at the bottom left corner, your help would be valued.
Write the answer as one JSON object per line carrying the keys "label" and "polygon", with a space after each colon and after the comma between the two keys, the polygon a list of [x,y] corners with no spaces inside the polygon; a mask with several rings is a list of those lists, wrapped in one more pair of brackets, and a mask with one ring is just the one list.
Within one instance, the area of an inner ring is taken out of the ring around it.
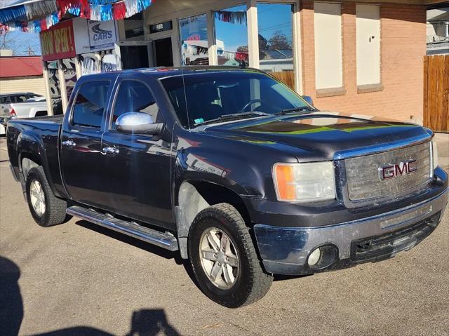
{"label": "dark rounded shadow on the asphalt at the bottom left corner", "polygon": [[18,335],[23,318],[23,302],[18,280],[19,267],[0,256],[0,334]]}

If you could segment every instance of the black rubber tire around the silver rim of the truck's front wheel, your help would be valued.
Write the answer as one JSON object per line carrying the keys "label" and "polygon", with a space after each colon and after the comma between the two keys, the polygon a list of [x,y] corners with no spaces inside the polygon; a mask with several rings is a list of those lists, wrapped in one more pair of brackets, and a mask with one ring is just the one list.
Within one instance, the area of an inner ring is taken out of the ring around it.
{"label": "black rubber tire around the silver rim of the truck's front wheel", "polygon": [[[222,230],[231,238],[239,257],[239,276],[231,288],[223,290],[210,280],[200,259],[200,241],[204,231]],[[260,300],[267,294],[273,277],[264,273],[253,246],[248,227],[240,213],[228,203],[220,203],[196,215],[189,230],[189,258],[199,288],[211,300],[225,307],[237,308]]]}

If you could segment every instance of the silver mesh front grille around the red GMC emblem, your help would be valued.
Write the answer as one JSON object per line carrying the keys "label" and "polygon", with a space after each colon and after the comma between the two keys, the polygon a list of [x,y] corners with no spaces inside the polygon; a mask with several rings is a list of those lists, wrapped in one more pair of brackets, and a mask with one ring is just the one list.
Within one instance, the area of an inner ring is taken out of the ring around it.
{"label": "silver mesh front grille around the red GMC emblem", "polygon": [[[382,167],[416,160],[416,170],[381,180]],[[425,186],[431,178],[429,142],[389,152],[360,156],[344,160],[346,166],[349,199],[395,198],[409,194]]]}

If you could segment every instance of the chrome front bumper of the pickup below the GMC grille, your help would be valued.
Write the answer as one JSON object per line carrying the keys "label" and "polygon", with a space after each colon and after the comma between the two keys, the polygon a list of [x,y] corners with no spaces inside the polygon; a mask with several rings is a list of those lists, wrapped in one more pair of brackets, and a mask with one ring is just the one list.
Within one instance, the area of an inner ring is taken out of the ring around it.
{"label": "chrome front bumper of the pickup below the GMC grille", "polygon": [[[313,274],[394,257],[434,231],[448,203],[448,190],[405,208],[326,227],[255,224],[264,267],[273,274]],[[333,262],[311,268],[307,258],[319,246],[334,253]]]}

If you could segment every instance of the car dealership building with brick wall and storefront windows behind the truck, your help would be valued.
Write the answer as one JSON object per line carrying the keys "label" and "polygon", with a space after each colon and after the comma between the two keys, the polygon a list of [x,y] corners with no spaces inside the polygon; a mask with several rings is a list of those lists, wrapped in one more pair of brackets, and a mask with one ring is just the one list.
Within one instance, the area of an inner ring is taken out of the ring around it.
{"label": "car dealership building with brick wall and storefront windows behind the truck", "polygon": [[[58,8],[76,2],[46,1]],[[319,109],[417,122],[423,113],[426,10],[444,2],[146,0],[141,11],[115,20],[119,6],[145,0],[79,0],[87,1],[92,8],[111,5],[113,15],[101,12],[95,22],[92,9],[86,20],[80,5],[81,15],[63,11],[53,27],[40,29],[47,94],[59,95],[65,106],[70,87],[82,74],[248,66],[311,96]],[[55,36],[65,42],[55,43]],[[62,76],[65,80],[59,81]]]}

